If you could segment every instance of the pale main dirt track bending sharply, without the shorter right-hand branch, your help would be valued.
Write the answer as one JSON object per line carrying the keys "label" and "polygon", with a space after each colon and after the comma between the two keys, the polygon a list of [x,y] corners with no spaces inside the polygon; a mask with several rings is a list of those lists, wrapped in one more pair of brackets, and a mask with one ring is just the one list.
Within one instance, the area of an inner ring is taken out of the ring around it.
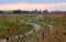
{"label": "pale main dirt track bending sharply, without the shorter right-hand branch", "polygon": [[[22,21],[22,22],[24,22],[24,21]],[[34,27],[34,30],[35,30],[35,31],[38,31],[38,30],[41,29],[41,25],[38,25],[38,24],[31,23],[31,22],[25,22],[25,23],[26,23],[26,24],[32,24],[32,25]],[[25,35],[31,34],[34,30],[29,31],[28,33],[25,33]],[[18,39],[19,36],[23,36],[23,34],[16,35],[16,36],[14,36],[14,38]],[[14,39],[14,38],[13,38],[13,39]],[[6,39],[1,39],[0,42],[7,42],[7,40],[6,40]]]}

